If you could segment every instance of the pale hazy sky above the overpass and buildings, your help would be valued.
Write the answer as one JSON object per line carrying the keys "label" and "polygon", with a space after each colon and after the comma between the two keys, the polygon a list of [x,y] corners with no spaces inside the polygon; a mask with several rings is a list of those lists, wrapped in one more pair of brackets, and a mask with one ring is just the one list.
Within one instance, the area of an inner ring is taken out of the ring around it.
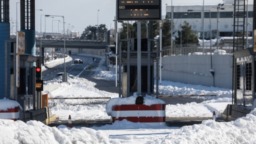
{"label": "pale hazy sky above the overpass and buildings", "polygon": [[[223,0],[172,0],[173,5],[217,5],[218,3],[223,3]],[[253,0],[249,0],[249,2]],[[18,19],[20,22],[20,0],[10,0],[10,17],[14,20]],[[162,0],[162,15],[166,15],[166,4],[171,5],[171,0]],[[17,6],[17,8],[16,8]],[[45,29],[45,18],[43,15],[63,15],[66,24],[65,30],[69,26],[75,28],[72,31],[82,32],[84,28],[89,25],[97,25],[98,10],[99,10],[99,25],[106,24],[108,29],[114,28],[114,17],[115,17],[115,0],[36,0],[35,9],[42,9],[43,11],[36,10],[35,20],[36,20],[36,31],[44,32]],[[18,15],[16,11],[18,10]],[[42,16],[41,16],[42,15]],[[17,16],[17,18],[16,18]],[[42,17],[40,25],[40,17]],[[54,20],[54,21],[52,21]],[[56,21],[55,21],[56,20]],[[58,28],[63,30],[63,24],[59,23],[58,20],[63,22],[62,17],[47,17],[46,18],[46,32],[57,32]],[[19,24],[20,26],[20,24]],[[16,26],[14,26],[16,27]],[[13,30],[15,31],[15,30]]]}

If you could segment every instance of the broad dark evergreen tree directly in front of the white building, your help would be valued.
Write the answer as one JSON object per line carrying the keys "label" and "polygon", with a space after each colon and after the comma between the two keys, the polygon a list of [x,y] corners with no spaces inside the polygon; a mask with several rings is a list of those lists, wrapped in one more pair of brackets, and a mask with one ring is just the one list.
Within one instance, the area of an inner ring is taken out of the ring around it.
{"label": "broad dark evergreen tree directly in front of the white building", "polygon": [[[198,43],[198,39],[196,36],[196,31],[192,30],[192,26],[189,25],[187,21],[184,21],[184,25],[181,26],[182,32],[182,44],[195,44]],[[178,37],[176,39],[176,44],[180,44],[180,30],[178,30]]]}

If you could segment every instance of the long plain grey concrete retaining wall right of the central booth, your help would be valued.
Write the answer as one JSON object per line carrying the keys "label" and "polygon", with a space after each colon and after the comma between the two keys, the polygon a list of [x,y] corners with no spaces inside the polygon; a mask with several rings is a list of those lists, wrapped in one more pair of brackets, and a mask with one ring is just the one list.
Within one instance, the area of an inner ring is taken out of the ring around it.
{"label": "long plain grey concrete retaining wall right of the central booth", "polygon": [[[232,61],[232,55],[212,55],[215,87],[232,88]],[[210,55],[163,57],[162,66],[162,80],[213,86]]]}

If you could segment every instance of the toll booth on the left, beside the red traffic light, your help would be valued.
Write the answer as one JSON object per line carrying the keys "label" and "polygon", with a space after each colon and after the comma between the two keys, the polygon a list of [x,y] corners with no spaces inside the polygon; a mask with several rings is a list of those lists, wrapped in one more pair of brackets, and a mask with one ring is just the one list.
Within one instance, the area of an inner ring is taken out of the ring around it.
{"label": "toll booth on the left, beside the red traffic light", "polygon": [[10,49],[7,54],[10,59],[7,65],[10,68],[10,95],[9,99],[16,100],[23,111],[33,109],[35,91],[35,67],[37,57],[24,53],[16,53],[16,41],[6,41],[5,47]]}

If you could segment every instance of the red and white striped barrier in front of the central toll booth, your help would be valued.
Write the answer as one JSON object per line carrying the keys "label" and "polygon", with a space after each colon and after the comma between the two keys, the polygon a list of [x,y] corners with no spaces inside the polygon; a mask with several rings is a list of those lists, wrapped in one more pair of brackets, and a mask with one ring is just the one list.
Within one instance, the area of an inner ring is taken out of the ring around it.
{"label": "red and white striped barrier in front of the central toll booth", "polygon": [[131,122],[146,123],[151,126],[165,126],[165,104],[116,105],[111,117],[112,122],[127,119]]}

